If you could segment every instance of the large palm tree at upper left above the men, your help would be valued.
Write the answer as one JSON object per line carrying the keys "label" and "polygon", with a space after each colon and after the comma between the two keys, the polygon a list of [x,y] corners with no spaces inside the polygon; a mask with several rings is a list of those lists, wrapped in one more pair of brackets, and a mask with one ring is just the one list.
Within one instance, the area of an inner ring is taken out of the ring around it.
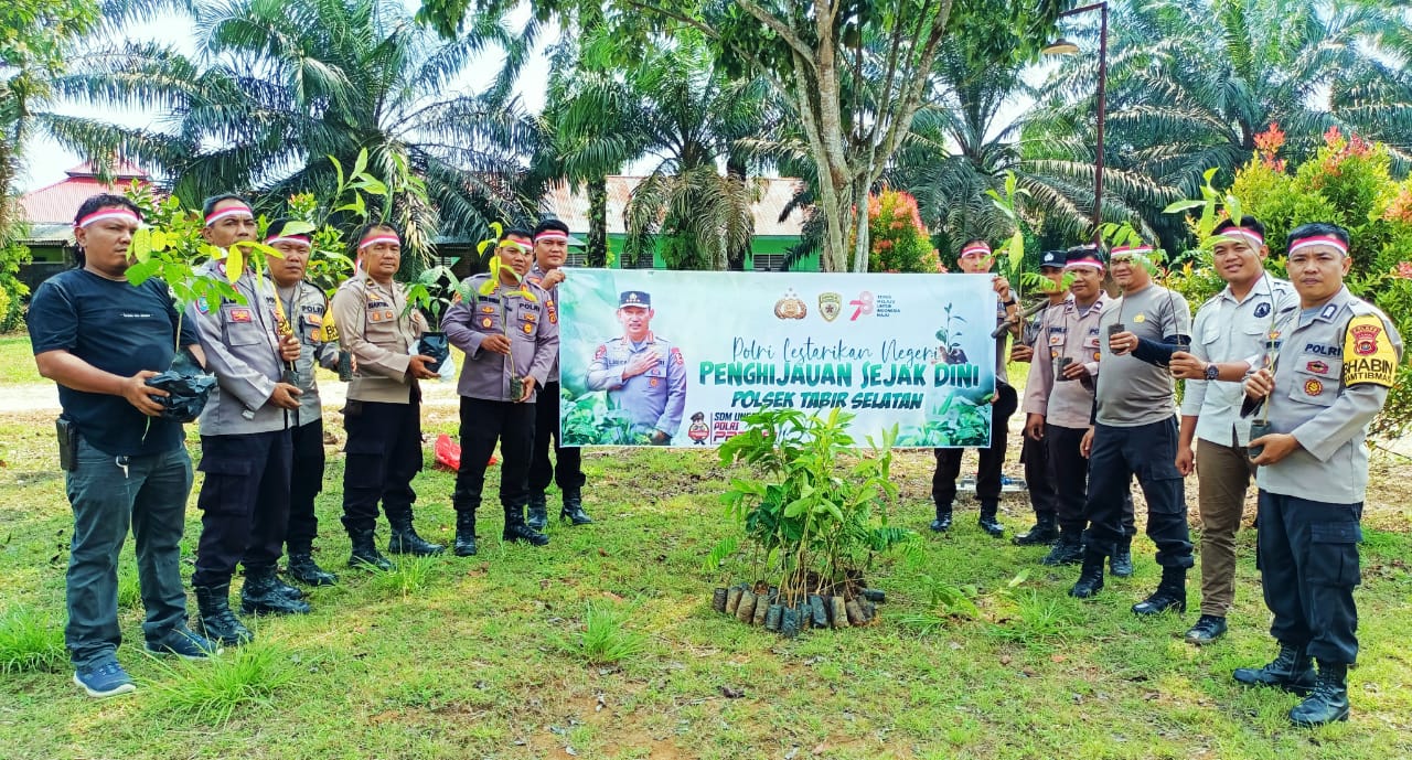
{"label": "large palm tree at upper left above the men", "polygon": [[240,189],[278,205],[330,186],[329,155],[349,165],[367,150],[373,174],[425,186],[394,210],[424,250],[438,220],[466,233],[527,215],[515,186],[532,121],[505,88],[460,93],[479,52],[517,44],[497,18],[442,42],[398,1],[216,0],[195,24],[195,57],[126,44],[56,82],[93,106],[161,109],[161,129],[54,113],[44,126],[82,153],[116,148],[158,167],[186,202]]}

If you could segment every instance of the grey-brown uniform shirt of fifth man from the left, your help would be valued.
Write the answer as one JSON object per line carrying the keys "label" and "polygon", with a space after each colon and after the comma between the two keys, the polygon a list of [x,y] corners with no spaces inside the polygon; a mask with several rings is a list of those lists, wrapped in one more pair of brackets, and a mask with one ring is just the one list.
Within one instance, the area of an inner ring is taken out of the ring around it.
{"label": "grey-brown uniform shirt of fifth man from the left", "polygon": [[[442,319],[446,339],[466,352],[456,393],[467,398],[518,401],[510,394],[510,380],[530,376],[534,390],[525,401],[534,401],[559,357],[558,315],[549,319],[549,294],[539,285],[524,285],[534,299],[511,295],[504,287],[484,295],[479,288],[487,280],[489,274],[467,278],[463,290],[474,298],[456,302]],[[491,335],[510,338],[510,356],[480,350],[480,343]]]}

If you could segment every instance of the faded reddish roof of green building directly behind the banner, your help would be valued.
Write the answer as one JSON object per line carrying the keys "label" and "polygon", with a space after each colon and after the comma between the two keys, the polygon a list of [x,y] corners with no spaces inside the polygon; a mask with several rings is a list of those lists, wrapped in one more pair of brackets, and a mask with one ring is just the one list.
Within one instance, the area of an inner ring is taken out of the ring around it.
{"label": "faded reddish roof of green building directly behind the banner", "polygon": [[[642,177],[607,177],[607,222],[609,233],[621,234],[623,210],[633,198],[633,188],[641,182]],[[784,222],[779,212],[795,196],[802,182],[788,177],[751,177],[755,184],[758,199],[751,205],[755,218],[755,236],[798,236],[803,227],[803,209],[794,209]],[[541,210],[561,219],[575,234],[589,232],[589,196],[586,188],[572,188],[566,182],[551,185],[541,201]]]}

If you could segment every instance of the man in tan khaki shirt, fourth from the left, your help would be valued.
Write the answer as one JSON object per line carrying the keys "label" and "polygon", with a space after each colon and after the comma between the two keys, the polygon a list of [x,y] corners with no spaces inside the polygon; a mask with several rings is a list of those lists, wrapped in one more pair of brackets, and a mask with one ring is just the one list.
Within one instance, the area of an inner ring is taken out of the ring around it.
{"label": "man in tan khaki shirt, fourth from the left", "polygon": [[391,569],[377,551],[377,503],[391,524],[387,551],[426,557],[446,547],[425,541],[412,527],[412,477],[422,469],[422,390],[435,380],[435,359],[411,353],[426,319],[407,302],[393,275],[402,266],[402,236],[390,223],[371,223],[353,237],[357,267],[333,294],[339,345],[353,355],[343,427],[343,527],[353,542],[349,566]]}

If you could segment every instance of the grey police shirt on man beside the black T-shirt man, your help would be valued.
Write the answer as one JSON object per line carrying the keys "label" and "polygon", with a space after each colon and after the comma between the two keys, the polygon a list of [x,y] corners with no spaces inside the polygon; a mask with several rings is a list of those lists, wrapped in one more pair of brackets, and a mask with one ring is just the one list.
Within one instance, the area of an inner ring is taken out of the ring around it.
{"label": "grey police shirt on man beside the black T-shirt man", "polygon": [[[223,261],[202,266],[198,274],[226,277]],[[186,307],[186,319],[196,328],[206,369],[216,387],[201,412],[202,435],[243,435],[289,427],[285,410],[270,404],[270,396],[284,374],[275,336],[274,284],[246,271],[236,280],[244,304],[225,301],[215,311],[205,301]]]}

